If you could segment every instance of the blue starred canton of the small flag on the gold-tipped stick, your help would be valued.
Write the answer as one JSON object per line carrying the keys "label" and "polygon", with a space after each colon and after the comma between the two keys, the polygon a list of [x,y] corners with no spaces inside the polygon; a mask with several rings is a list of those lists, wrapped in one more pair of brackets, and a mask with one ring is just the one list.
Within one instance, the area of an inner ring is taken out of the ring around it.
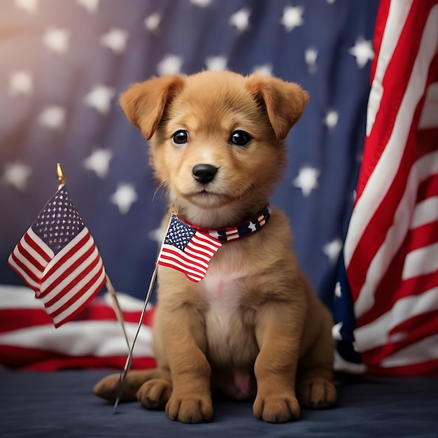
{"label": "blue starred canton of the small flag on the gold-tipped stick", "polygon": [[59,253],[85,227],[65,187],[45,204],[32,224],[35,234],[53,251]]}

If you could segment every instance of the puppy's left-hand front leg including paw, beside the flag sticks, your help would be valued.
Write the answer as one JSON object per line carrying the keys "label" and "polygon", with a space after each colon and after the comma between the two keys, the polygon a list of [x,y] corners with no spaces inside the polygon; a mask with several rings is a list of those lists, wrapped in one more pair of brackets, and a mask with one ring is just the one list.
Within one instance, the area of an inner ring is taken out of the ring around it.
{"label": "puppy's left-hand front leg including paw, beside the flag sticks", "polygon": [[211,421],[211,367],[205,356],[204,318],[194,306],[185,304],[168,311],[162,322],[173,385],[166,413],[183,423]]}

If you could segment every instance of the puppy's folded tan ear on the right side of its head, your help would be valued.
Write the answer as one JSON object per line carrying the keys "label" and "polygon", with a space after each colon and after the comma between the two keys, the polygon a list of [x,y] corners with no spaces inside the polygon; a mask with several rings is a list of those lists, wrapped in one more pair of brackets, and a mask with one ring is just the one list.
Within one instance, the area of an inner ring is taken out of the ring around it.
{"label": "puppy's folded tan ear on the right side of its head", "polygon": [[260,73],[248,76],[246,81],[250,93],[263,101],[277,140],[284,140],[302,116],[309,94],[298,84]]}

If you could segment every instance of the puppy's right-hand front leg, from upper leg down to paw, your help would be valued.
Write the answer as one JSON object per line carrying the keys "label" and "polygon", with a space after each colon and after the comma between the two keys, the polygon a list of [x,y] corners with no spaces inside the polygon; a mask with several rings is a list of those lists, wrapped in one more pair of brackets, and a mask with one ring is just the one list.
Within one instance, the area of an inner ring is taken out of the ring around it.
{"label": "puppy's right-hand front leg, from upper leg down to paw", "polygon": [[295,376],[303,329],[300,313],[288,304],[271,302],[260,312],[255,327],[260,353],[254,367],[257,397],[253,413],[270,423],[299,418]]}

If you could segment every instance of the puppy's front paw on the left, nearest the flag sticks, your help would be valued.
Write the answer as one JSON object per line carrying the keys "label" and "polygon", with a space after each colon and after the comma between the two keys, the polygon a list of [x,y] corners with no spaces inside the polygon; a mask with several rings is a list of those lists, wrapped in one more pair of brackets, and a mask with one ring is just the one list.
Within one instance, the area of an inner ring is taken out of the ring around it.
{"label": "puppy's front paw on the left, nearest the flag sticks", "polygon": [[171,420],[182,423],[202,423],[213,419],[211,397],[178,397],[171,395],[166,404],[166,414]]}

